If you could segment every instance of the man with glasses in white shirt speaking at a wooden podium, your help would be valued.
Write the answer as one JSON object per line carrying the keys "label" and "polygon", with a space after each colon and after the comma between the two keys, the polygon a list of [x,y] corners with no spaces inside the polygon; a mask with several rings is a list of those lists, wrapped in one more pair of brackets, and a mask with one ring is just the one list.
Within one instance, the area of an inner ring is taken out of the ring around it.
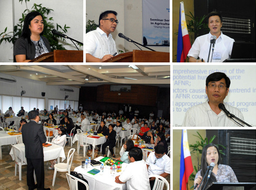
{"label": "man with glasses in white shirt speaking at a wooden podium", "polygon": [[118,25],[117,14],[115,11],[101,13],[97,29],[86,33],[86,62],[102,62],[118,53],[111,35]]}

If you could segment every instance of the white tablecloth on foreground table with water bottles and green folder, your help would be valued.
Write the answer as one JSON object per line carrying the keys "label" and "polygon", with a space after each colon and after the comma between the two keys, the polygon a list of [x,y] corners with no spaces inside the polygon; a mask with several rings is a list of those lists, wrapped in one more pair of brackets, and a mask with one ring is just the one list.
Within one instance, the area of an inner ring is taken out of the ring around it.
{"label": "white tablecloth on foreground table with water bottles and green folder", "polygon": [[[95,160],[99,161],[102,158],[104,157],[97,157],[95,158]],[[122,164],[122,171],[126,168],[127,165],[128,164],[126,163]],[[122,171],[116,172],[115,176],[111,176],[110,169],[105,167],[103,175],[101,175],[100,173],[97,173],[96,175],[87,173],[87,171],[90,171],[94,168],[100,170],[100,166],[90,166],[90,168],[87,170],[83,169],[81,166],[78,166],[74,170],[77,173],[82,174],[83,178],[85,178],[88,181],[90,190],[126,190],[126,183],[120,184],[115,182],[115,177],[119,176],[122,173]]]}

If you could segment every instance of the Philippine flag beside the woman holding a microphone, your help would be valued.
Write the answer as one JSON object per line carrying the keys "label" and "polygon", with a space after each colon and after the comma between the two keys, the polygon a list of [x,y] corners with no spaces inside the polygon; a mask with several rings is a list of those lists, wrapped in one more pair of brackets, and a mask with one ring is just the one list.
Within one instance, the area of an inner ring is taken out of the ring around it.
{"label": "Philippine flag beside the woman holding a microphone", "polygon": [[187,142],[187,130],[182,130],[180,154],[180,190],[187,190],[187,182],[192,172],[193,165]]}

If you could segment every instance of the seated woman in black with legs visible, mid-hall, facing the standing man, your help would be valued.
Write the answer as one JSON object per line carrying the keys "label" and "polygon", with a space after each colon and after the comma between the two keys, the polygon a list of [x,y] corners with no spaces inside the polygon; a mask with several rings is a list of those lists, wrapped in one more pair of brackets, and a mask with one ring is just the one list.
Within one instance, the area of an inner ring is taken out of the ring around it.
{"label": "seated woman in black with legs visible, mid-hall, facing the standing man", "polygon": [[116,131],[113,130],[112,124],[109,124],[109,130],[106,132],[105,138],[107,139],[104,144],[102,144],[102,155],[105,157],[106,152],[105,148],[109,146],[109,150],[111,151],[111,155],[116,157],[114,154],[113,148],[116,146]]}

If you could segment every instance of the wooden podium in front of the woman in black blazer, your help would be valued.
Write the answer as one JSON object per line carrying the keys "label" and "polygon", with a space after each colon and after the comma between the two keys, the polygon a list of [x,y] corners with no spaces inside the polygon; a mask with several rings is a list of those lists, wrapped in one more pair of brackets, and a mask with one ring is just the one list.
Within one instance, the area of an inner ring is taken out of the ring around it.
{"label": "wooden podium in front of the woman in black blazer", "polygon": [[83,51],[54,50],[44,53],[29,62],[83,62]]}

